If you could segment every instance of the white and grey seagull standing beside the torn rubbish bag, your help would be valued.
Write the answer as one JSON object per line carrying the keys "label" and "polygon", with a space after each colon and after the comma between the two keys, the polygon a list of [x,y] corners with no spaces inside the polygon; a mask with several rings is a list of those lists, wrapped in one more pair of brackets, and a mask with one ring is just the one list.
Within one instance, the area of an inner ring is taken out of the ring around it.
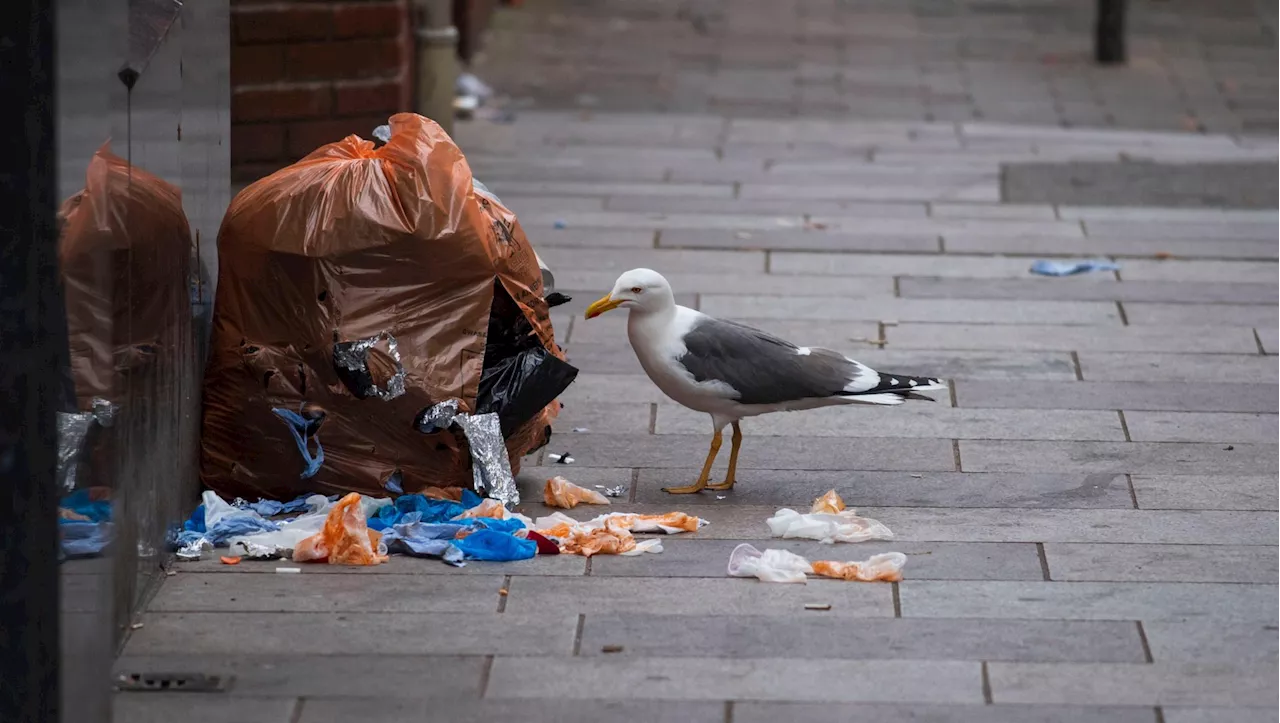
{"label": "white and grey seagull standing beside the torn rubbish bag", "polygon": [[[933,402],[919,392],[947,388],[938,379],[878,372],[838,352],[799,347],[680,306],[667,279],[652,269],[618,276],[613,290],[586,308],[586,319],[620,307],[630,311],[627,338],[649,379],[675,402],[712,417],[714,434],[701,473],[691,485],[664,488],[671,494],[732,489],[742,418],[837,404]],[[709,485],[727,425],[733,425],[728,472],[723,482]]]}

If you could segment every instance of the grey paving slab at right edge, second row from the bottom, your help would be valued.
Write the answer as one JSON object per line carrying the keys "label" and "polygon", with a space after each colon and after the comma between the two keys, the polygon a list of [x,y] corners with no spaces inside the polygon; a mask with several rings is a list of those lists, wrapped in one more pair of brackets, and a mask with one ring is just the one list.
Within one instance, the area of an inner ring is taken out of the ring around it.
{"label": "grey paving slab at right edge, second row from the bottom", "polygon": [[987,669],[1000,703],[1280,706],[1276,665],[992,663]]}

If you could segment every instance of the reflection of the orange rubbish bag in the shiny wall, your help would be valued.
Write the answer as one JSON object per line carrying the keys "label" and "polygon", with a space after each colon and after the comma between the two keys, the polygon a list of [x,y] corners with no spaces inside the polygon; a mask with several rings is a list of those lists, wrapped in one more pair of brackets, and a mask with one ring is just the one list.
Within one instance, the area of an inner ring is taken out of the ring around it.
{"label": "reflection of the orange rubbish bag in the shiny wall", "polygon": [[111,154],[93,154],[84,189],[63,202],[58,260],[77,407],[120,402],[191,352],[193,242],[178,187]]}

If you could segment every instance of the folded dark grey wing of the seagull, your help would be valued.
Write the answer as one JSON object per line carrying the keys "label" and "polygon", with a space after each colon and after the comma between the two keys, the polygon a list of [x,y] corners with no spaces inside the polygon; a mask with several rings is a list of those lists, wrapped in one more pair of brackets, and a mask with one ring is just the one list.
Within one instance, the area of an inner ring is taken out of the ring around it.
{"label": "folded dark grey wing of the seagull", "polygon": [[[879,381],[874,371],[836,352],[801,349],[732,321],[708,317],[690,329],[684,342],[687,351],[676,361],[698,381],[733,388],[741,404],[847,395]],[[867,379],[868,374],[872,379]]]}

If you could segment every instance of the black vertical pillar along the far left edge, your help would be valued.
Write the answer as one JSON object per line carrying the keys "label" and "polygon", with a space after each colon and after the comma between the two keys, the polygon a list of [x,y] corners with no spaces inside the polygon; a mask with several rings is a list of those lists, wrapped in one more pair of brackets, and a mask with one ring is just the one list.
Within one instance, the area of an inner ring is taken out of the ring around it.
{"label": "black vertical pillar along the far left edge", "polygon": [[59,715],[54,0],[0,3],[0,720]]}

